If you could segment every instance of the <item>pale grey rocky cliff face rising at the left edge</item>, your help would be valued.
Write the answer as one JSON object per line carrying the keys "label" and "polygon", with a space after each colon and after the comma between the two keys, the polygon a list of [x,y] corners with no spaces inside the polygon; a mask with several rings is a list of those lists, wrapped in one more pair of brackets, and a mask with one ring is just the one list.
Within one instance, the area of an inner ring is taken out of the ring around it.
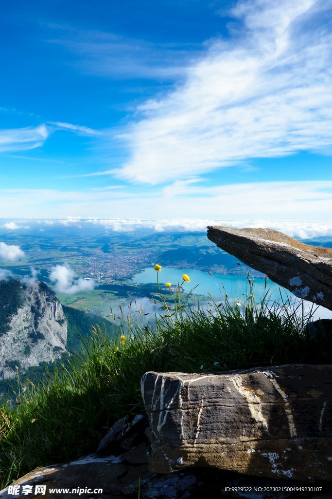
{"label": "pale grey rocky cliff face rising at the left edge", "polygon": [[60,301],[44,283],[0,281],[0,379],[16,376],[66,350],[67,320]]}

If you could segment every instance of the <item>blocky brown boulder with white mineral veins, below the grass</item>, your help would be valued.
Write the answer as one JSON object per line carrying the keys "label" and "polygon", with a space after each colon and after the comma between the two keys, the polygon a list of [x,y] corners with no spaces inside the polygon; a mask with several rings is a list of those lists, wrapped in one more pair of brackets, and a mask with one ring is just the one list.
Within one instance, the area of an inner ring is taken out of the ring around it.
{"label": "blocky brown boulder with white mineral veins, below the grass", "polygon": [[208,466],[332,481],[332,365],[148,372],[141,388],[152,473]]}

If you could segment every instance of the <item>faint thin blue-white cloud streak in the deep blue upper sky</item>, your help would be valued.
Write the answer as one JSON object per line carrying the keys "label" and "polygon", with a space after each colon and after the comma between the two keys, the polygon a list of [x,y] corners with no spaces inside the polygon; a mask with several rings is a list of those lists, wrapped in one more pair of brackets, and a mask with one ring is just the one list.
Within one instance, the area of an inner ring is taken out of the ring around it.
{"label": "faint thin blue-white cloud streak in the deep blue upper sky", "polygon": [[190,59],[202,50],[198,43],[152,43],[99,30],[48,24],[63,32],[49,43],[79,54],[75,66],[87,74],[114,79],[149,78],[173,81],[182,77]]}

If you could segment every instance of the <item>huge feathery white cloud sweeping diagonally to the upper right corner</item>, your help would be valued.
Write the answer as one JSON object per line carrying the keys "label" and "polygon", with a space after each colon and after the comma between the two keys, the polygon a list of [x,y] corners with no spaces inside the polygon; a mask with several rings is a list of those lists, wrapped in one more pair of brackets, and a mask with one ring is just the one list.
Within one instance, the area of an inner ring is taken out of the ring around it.
{"label": "huge feathery white cloud sweeping diagonally to the upper right corner", "polygon": [[132,152],[118,176],[155,184],[331,146],[329,4],[240,1],[228,15],[233,36],[213,40],[186,81],[118,135]]}

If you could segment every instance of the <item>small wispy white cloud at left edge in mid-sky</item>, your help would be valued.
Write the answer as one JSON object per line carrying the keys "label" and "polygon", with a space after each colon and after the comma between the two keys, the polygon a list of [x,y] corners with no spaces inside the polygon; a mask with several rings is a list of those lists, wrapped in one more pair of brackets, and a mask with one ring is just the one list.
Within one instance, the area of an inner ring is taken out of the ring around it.
{"label": "small wispy white cloud at left edge in mid-sky", "polygon": [[49,132],[45,125],[0,130],[0,152],[25,151],[43,145]]}

